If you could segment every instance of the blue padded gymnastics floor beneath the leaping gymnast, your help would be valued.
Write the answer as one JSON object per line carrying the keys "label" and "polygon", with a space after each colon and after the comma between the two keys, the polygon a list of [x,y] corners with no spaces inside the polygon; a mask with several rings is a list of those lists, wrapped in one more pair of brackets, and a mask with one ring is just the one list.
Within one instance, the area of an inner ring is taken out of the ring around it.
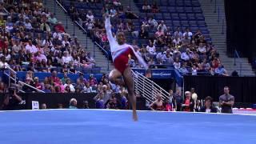
{"label": "blue padded gymnastics floor beneath the leaping gymnast", "polygon": [[0,143],[256,143],[256,116],[128,110],[0,112]]}

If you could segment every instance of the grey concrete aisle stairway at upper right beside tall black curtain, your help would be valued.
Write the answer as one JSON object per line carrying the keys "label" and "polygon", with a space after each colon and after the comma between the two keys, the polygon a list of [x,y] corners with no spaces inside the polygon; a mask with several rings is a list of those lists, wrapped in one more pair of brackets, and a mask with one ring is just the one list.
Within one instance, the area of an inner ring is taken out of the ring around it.
{"label": "grey concrete aisle stairway at upper right beside tall black curtain", "polygon": [[[206,18],[208,30],[210,30],[210,37],[220,54],[222,64],[225,69],[231,74],[234,70],[238,71],[241,76],[255,76],[252,67],[248,62],[248,58],[238,58],[236,66],[234,66],[234,58],[228,58],[226,54],[226,18],[225,7],[223,0],[216,0],[216,12],[214,0],[198,0],[201,3],[203,14]],[[219,9],[219,22],[218,22],[218,9]],[[222,21],[223,21],[223,34],[222,34]],[[240,63],[242,70],[240,74]]]}

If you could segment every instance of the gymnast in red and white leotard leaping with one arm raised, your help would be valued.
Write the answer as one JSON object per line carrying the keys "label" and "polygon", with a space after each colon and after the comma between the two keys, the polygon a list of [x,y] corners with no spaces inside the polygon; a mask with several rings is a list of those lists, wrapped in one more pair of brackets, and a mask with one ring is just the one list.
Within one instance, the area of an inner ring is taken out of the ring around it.
{"label": "gymnast in red and white leotard leaping with one arm raised", "polygon": [[108,41],[110,43],[110,51],[114,63],[114,70],[110,71],[109,79],[120,86],[126,86],[128,90],[129,100],[133,109],[133,119],[138,120],[136,112],[136,97],[134,94],[134,77],[131,74],[130,66],[128,65],[129,55],[137,58],[138,62],[147,69],[146,62],[134,50],[133,46],[126,43],[126,37],[123,32],[118,32],[116,38],[113,37],[110,24],[109,14],[105,14],[105,28]]}

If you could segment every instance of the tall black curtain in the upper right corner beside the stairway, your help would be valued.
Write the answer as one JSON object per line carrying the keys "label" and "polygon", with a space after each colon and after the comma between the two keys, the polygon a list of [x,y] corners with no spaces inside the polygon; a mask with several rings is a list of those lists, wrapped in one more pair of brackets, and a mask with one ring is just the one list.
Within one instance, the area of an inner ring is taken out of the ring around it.
{"label": "tall black curtain in the upper right corner beside the stairway", "polygon": [[248,58],[256,57],[256,1],[225,0],[227,52],[234,49]]}

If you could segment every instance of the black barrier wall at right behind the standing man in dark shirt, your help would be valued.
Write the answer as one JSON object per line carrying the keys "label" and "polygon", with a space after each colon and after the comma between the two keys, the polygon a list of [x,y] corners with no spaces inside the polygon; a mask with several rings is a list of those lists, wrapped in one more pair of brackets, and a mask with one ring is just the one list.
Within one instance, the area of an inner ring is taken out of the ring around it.
{"label": "black barrier wall at right behind the standing man in dark shirt", "polygon": [[214,101],[223,94],[224,86],[230,87],[230,94],[234,95],[235,102],[256,103],[255,77],[206,77],[184,76],[184,90],[194,87],[198,98],[211,96]]}

